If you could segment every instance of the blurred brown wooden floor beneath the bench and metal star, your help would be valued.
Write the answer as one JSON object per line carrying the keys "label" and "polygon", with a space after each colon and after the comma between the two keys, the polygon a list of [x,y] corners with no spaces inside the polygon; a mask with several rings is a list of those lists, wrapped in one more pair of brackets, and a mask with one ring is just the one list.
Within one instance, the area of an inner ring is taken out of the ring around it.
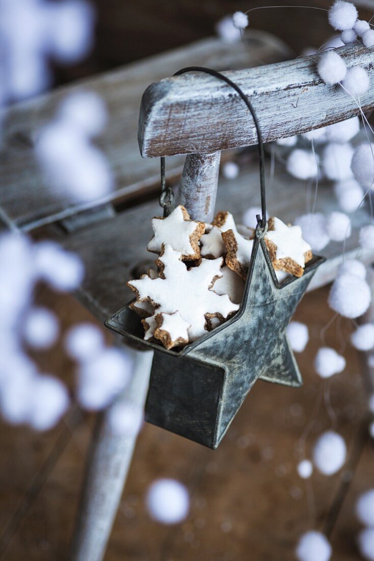
{"label": "blurred brown wooden floor beneath the bench and metal star", "polygon": [[[344,349],[347,369],[333,379],[322,381],[313,372],[321,328],[332,316],[326,296],[327,289],[308,294],[297,312],[311,334],[307,351],[298,356],[303,388],[258,381],[218,450],[144,426],[107,561],[287,561],[293,559],[298,536],[308,528],[330,534],[333,561],[359,559],[354,503],[361,491],[373,486],[373,448],[367,438],[366,397],[357,354],[349,345]],[[71,297],[45,296],[44,300],[66,325],[88,317]],[[336,320],[327,330],[326,343],[343,350],[350,328],[349,323]],[[41,361],[45,369],[72,384],[71,365],[62,353]],[[94,416],[70,414],[65,423],[44,435],[2,425],[0,527],[8,540],[0,556],[4,561],[69,558],[94,420]],[[307,482],[299,479],[295,466],[301,435],[306,435],[308,454],[316,436],[331,426],[348,445],[344,470],[333,477],[315,473]],[[51,471],[55,454],[61,455]],[[45,473],[45,483],[33,497]],[[183,524],[162,526],[147,515],[145,492],[157,477],[175,477],[187,485],[191,512]],[[21,523],[11,528],[27,490],[31,504],[27,508],[24,503],[24,518],[21,513]]]}

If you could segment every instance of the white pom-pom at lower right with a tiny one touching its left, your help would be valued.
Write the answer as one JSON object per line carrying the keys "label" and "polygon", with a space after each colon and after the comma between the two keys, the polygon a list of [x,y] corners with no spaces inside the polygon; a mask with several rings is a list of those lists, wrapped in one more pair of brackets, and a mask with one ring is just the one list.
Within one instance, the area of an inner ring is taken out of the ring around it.
{"label": "white pom-pom at lower right with a tiny one touching its left", "polygon": [[347,447],[344,439],[332,430],[322,434],[313,448],[313,463],[324,475],[333,475],[345,462]]}

